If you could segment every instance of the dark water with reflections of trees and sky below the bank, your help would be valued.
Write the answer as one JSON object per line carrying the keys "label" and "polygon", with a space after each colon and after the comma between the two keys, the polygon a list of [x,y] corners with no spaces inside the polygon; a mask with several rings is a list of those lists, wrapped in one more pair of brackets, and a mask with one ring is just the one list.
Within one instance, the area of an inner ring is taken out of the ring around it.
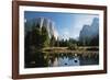
{"label": "dark water with reflections of trees and sky below the bank", "polygon": [[29,64],[25,64],[25,68],[35,67],[66,67],[66,66],[85,66],[85,65],[98,65],[99,55],[81,56],[77,54],[47,54],[36,53],[32,56]]}

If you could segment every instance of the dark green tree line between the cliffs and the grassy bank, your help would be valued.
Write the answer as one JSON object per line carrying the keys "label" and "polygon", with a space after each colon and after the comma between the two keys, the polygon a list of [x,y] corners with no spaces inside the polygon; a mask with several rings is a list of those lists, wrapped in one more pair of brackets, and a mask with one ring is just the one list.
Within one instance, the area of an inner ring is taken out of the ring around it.
{"label": "dark green tree line between the cliffs and the grassy bank", "polygon": [[46,26],[40,27],[40,24],[33,24],[32,31],[25,34],[25,47],[34,46],[36,49],[43,47],[74,47],[77,46],[99,46],[99,35],[94,38],[85,38],[85,44],[82,41],[77,41],[75,38],[69,39],[55,39],[54,35],[48,36]]}

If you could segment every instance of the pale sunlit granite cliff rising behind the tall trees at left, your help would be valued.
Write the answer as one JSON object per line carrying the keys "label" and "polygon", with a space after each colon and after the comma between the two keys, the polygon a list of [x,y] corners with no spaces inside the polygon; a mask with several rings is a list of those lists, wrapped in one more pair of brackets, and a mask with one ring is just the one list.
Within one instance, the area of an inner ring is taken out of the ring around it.
{"label": "pale sunlit granite cliff rising behind the tall trees at left", "polygon": [[26,34],[26,32],[32,31],[33,25],[37,25],[37,24],[40,25],[40,30],[42,27],[46,27],[46,30],[48,32],[48,36],[50,37],[54,36],[57,39],[58,33],[55,28],[55,23],[47,18],[35,18],[35,19],[32,19],[29,21],[26,20],[25,28],[24,28],[25,34]]}

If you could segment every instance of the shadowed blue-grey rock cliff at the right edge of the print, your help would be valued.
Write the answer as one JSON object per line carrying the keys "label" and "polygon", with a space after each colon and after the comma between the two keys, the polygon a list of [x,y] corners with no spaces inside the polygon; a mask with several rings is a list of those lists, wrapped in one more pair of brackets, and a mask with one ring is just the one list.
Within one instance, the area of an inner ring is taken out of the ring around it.
{"label": "shadowed blue-grey rock cliff at the right edge of the print", "polygon": [[84,25],[79,34],[79,41],[85,42],[87,39],[92,39],[99,35],[99,19],[95,18],[91,25]]}

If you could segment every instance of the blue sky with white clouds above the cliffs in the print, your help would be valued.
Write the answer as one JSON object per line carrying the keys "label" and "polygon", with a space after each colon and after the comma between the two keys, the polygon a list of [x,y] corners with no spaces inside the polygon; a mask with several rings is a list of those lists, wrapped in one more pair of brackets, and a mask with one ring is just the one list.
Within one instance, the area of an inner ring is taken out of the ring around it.
{"label": "blue sky with white clouds above the cliffs in the print", "polygon": [[58,37],[78,38],[82,26],[90,25],[95,18],[99,18],[98,14],[84,14],[84,13],[61,13],[61,12],[35,12],[25,11],[24,20],[31,20],[35,18],[47,18],[55,23],[55,28],[58,33]]}

